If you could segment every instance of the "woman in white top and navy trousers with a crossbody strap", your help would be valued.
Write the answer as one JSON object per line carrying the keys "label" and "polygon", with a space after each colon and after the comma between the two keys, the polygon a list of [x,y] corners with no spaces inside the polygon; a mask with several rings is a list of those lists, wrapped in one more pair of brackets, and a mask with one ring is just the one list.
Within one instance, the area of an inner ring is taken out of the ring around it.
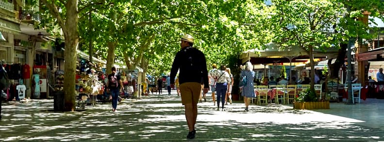
{"label": "woman in white top and navy trousers with a crossbody strap", "polygon": [[229,82],[231,82],[229,73],[226,72],[225,69],[226,67],[222,65],[220,66],[220,71],[216,70],[211,73],[216,82],[217,111],[220,110],[220,101],[222,102],[222,111],[224,111],[225,94],[227,92]]}

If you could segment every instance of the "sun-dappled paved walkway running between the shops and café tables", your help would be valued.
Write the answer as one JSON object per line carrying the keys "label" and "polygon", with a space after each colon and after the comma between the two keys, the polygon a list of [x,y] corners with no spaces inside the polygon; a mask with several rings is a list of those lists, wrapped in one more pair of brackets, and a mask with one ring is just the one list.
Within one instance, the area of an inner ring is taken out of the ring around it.
{"label": "sun-dappled paved walkway running between the shops and caf\u00e9 tables", "polygon": [[187,140],[184,107],[175,93],[124,99],[116,113],[111,104],[54,113],[48,111],[51,99],[3,103],[0,141],[384,141],[384,101],[376,99],[317,111],[251,105],[249,112],[240,101],[215,111],[207,99],[198,104],[196,138]]}

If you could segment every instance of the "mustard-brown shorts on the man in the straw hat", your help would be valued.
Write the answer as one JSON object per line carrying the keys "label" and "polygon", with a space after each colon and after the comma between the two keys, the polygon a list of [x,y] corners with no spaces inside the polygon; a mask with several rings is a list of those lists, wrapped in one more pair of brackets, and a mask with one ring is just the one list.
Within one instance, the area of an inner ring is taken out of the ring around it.
{"label": "mustard-brown shorts on the man in the straw hat", "polygon": [[196,82],[187,82],[180,85],[181,103],[197,104],[201,92],[201,84]]}

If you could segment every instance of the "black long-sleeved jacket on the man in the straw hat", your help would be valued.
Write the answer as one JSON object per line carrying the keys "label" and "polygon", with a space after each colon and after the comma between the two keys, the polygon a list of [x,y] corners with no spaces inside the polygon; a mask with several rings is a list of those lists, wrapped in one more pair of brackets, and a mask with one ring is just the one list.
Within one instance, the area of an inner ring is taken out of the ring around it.
{"label": "black long-sleeved jacket on the man in the straw hat", "polygon": [[200,50],[186,47],[176,53],[171,69],[171,84],[175,84],[175,76],[179,71],[179,84],[186,82],[201,83],[203,78],[204,88],[209,88],[206,58]]}

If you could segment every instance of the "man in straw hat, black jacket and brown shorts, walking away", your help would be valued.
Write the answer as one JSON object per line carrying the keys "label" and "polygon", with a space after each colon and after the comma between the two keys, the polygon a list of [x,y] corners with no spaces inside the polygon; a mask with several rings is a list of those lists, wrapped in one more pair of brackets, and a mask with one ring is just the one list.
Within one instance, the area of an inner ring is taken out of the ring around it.
{"label": "man in straw hat, black jacket and brown shorts, walking away", "polygon": [[208,92],[208,71],[205,55],[193,48],[193,37],[189,34],[181,38],[181,50],[177,52],[171,69],[171,86],[175,86],[175,76],[179,71],[181,102],[185,106],[185,117],[189,128],[187,139],[195,137],[194,126],[197,118],[197,102],[204,82],[204,94]]}

